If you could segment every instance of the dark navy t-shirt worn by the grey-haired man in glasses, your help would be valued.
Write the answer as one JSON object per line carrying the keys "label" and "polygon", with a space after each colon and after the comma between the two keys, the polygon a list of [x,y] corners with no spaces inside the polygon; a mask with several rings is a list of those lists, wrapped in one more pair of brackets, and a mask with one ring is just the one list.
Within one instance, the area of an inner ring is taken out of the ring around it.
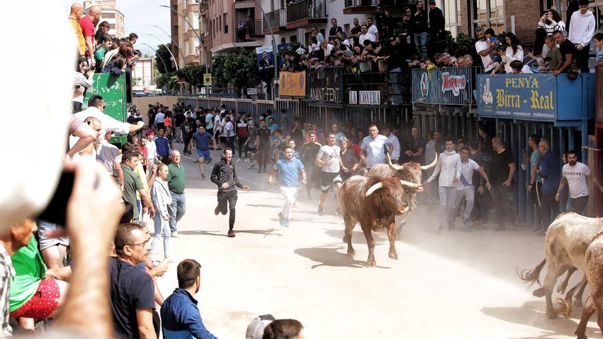
{"label": "dark navy t-shirt worn by the grey-haired man in glasses", "polygon": [[155,310],[155,286],[144,270],[109,258],[110,302],[116,338],[140,338],[136,310]]}

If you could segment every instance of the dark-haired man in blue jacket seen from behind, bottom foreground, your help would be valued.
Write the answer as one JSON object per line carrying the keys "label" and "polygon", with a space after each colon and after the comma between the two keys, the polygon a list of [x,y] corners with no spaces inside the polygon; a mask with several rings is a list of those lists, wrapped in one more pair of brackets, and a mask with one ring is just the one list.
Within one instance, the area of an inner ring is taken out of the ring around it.
{"label": "dark-haired man in blue jacket seen from behind, bottom foreground", "polygon": [[178,288],[161,306],[163,336],[166,339],[217,339],[206,329],[193,297],[201,288],[201,265],[182,260],[176,269]]}

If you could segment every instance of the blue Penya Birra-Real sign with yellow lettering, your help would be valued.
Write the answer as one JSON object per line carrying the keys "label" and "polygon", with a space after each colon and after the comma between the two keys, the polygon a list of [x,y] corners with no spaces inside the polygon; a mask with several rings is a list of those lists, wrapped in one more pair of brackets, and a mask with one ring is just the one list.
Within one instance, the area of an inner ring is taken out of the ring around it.
{"label": "blue Penya Birra-Real sign with yellow lettering", "polygon": [[478,75],[478,114],[527,120],[557,118],[554,75]]}

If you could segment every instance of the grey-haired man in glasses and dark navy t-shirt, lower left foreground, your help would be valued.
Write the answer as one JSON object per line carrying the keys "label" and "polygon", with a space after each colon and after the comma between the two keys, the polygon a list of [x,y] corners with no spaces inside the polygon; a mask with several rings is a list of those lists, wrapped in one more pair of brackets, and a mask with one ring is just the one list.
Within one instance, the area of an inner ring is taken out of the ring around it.
{"label": "grey-haired man in glasses and dark navy t-shirt, lower left foreground", "polygon": [[114,333],[120,338],[156,339],[153,328],[155,287],[151,276],[136,265],[149,259],[151,236],[143,225],[123,223],[110,258],[110,302]]}

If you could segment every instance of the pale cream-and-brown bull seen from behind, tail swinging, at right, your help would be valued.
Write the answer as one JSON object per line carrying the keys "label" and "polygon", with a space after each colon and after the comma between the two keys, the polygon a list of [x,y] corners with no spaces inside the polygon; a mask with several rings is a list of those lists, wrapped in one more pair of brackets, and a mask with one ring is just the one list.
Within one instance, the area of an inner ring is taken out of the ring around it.
{"label": "pale cream-and-brown bull seen from behind, tail swinging, at right", "polygon": [[536,297],[545,296],[546,314],[549,318],[554,319],[558,314],[569,316],[573,308],[571,297],[573,297],[576,288],[579,288],[576,303],[582,302],[582,293],[587,285],[585,279],[574,288],[571,288],[565,299],[557,299],[560,303],[565,304],[558,310],[555,310],[552,304],[553,287],[558,277],[563,275],[565,271],[567,271],[567,276],[559,286],[558,292],[565,290],[569,277],[576,270],[584,273],[584,253],[600,231],[603,231],[603,219],[588,218],[576,213],[559,214],[547,231],[545,259],[533,270],[524,270],[519,274],[519,277],[526,282],[540,284],[540,272],[547,264],[544,286],[534,290],[532,294]]}

